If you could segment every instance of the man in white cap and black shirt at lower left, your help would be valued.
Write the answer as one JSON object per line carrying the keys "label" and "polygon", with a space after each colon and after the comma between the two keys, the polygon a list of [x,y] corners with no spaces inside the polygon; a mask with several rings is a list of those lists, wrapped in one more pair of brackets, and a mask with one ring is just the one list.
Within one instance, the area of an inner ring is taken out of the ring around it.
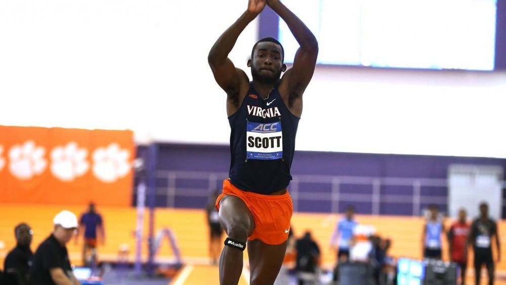
{"label": "man in white cap and black shirt at lower left", "polygon": [[77,217],[64,210],[53,219],[53,232],[38,246],[30,268],[31,285],[80,285],[72,273],[66,244],[77,233]]}

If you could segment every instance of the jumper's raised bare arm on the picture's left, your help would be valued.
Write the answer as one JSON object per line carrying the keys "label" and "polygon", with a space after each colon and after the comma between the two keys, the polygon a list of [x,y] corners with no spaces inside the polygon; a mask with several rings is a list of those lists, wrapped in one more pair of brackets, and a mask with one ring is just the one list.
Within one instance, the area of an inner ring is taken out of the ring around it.
{"label": "jumper's raised bare arm on the picture's left", "polygon": [[265,0],[249,0],[247,10],[216,40],[207,56],[216,82],[229,97],[238,96],[241,84],[247,83],[248,77],[243,70],[234,66],[228,55],[241,32],[264,10],[265,5]]}

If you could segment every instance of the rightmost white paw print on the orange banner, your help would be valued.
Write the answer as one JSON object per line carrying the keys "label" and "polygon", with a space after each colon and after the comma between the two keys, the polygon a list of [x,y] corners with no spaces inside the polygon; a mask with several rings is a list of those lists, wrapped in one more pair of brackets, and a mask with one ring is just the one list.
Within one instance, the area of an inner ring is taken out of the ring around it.
{"label": "rightmost white paw print on the orange banner", "polygon": [[130,151],[116,143],[99,147],[93,152],[93,173],[103,182],[115,182],[130,172]]}

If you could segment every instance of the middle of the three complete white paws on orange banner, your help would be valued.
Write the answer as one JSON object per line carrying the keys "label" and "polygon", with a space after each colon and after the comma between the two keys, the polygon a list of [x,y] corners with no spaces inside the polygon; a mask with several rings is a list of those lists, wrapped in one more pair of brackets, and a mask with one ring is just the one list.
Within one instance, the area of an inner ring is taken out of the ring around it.
{"label": "middle of the three complete white paws on orange banner", "polygon": [[73,181],[90,169],[87,155],[88,151],[75,142],[57,146],[51,151],[51,173],[61,181]]}

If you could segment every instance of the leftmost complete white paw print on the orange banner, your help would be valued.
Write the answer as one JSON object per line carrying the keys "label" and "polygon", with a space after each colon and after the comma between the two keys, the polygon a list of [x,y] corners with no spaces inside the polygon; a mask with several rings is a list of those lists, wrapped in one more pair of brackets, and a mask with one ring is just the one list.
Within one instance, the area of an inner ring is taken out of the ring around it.
{"label": "leftmost complete white paw print on the orange banner", "polygon": [[16,144],[9,150],[9,171],[21,180],[28,180],[46,170],[48,162],[44,158],[46,149],[36,146],[33,141]]}

